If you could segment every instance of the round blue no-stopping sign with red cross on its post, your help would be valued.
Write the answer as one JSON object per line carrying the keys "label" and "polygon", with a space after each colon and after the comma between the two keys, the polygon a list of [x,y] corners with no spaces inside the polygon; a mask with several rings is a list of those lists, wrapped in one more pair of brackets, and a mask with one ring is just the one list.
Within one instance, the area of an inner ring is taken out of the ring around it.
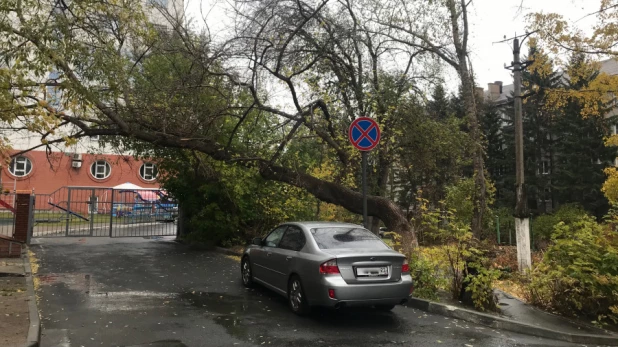
{"label": "round blue no-stopping sign with red cross on its post", "polygon": [[363,226],[369,229],[367,218],[367,153],[380,142],[380,126],[371,118],[356,118],[350,124],[348,138],[352,145],[362,152]]}

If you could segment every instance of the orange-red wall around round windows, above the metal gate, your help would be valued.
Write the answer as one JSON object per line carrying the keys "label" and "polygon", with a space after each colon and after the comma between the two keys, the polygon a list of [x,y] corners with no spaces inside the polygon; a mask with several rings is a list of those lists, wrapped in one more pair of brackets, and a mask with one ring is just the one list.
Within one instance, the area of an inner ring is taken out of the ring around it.
{"label": "orange-red wall around round windows, above the metal gate", "polygon": [[[15,152],[13,152],[15,153]],[[6,165],[2,168],[2,189],[13,191],[34,189],[35,194],[49,194],[61,187],[86,186],[109,188],[130,182],[143,188],[158,188],[157,181],[147,182],[139,176],[142,161],[132,156],[121,155],[82,155],[82,167],[72,168],[72,158],[64,153],[54,152],[49,157],[44,151],[32,151],[24,154],[32,162],[32,171],[26,177],[14,177]],[[104,159],[111,166],[111,175],[98,180],[90,174],[90,166],[97,160]]]}

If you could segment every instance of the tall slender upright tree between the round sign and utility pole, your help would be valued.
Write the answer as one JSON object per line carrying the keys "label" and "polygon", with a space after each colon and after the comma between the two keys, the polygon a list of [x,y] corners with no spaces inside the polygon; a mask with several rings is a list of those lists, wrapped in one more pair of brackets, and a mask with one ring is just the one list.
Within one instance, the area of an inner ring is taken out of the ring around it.
{"label": "tall slender upright tree between the round sign and utility pole", "polygon": [[[466,0],[373,1],[374,21],[385,35],[410,47],[427,50],[453,68],[460,81],[462,100],[472,140],[474,213],[471,228],[480,237],[487,202],[484,148],[479,123],[474,76],[468,60],[470,27]],[[386,15],[385,15],[386,14]]]}

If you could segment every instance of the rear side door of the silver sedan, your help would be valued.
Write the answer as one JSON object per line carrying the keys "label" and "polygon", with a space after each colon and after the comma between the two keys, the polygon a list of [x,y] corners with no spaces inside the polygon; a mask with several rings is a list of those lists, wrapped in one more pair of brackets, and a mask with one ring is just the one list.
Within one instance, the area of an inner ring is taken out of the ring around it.
{"label": "rear side door of the silver sedan", "polygon": [[287,292],[288,278],[294,270],[299,258],[299,252],[305,246],[305,235],[297,226],[290,225],[279,242],[276,252],[269,261],[274,272],[274,283],[281,291]]}

